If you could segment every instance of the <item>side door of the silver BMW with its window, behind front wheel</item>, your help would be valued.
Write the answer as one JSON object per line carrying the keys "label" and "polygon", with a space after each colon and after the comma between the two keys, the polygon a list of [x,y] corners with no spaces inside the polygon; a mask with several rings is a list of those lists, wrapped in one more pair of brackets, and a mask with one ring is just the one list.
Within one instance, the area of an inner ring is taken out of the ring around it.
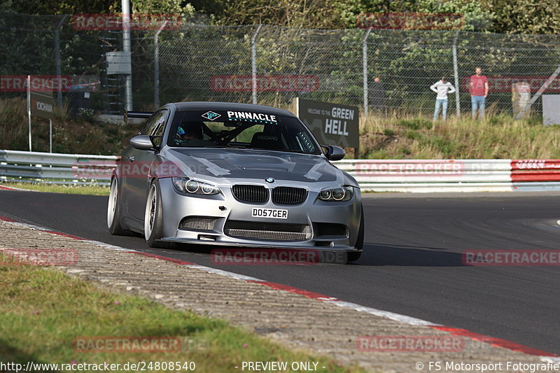
{"label": "side door of the silver BMW with its window, behind front wheel", "polygon": [[[160,136],[167,118],[169,118],[167,109],[156,111],[146,122],[141,134]],[[144,209],[150,186],[148,174],[150,174],[151,165],[155,160],[155,153],[153,150],[134,149],[125,160],[128,162],[130,170],[127,174],[127,212],[141,220],[144,220]]]}

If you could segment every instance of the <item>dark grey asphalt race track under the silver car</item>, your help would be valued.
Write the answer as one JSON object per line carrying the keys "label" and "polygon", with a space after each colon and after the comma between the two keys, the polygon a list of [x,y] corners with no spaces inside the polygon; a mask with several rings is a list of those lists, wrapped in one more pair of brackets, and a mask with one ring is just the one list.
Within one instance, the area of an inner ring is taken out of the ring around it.
{"label": "dark grey asphalt race track under the silver car", "polygon": [[[209,249],[111,236],[107,197],[0,191],[0,214],[109,244],[283,283],[560,354],[559,266],[465,266],[466,250],[558,250],[560,196],[368,195],[352,265],[213,265]],[[157,279],[154,279],[157,281]]]}

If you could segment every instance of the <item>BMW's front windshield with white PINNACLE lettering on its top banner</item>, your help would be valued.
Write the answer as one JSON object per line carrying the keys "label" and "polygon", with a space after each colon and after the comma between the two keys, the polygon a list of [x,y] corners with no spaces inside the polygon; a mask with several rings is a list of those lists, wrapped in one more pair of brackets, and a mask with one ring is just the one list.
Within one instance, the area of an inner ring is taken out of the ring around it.
{"label": "BMW's front windshield with white PINNACLE lettering on its top banner", "polygon": [[321,154],[309,130],[297,118],[246,111],[178,111],[167,145]]}

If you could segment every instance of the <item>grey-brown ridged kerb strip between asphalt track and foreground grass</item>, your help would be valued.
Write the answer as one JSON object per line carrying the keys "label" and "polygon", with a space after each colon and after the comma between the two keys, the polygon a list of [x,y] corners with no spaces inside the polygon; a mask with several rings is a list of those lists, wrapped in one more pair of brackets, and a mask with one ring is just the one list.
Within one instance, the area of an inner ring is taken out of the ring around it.
{"label": "grey-brown ridged kerb strip between asphalt track and foreground grass", "polygon": [[[475,363],[502,363],[486,372],[529,372],[531,368],[513,370],[507,369],[506,364],[542,363],[538,356],[471,339],[461,339],[460,348],[442,349],[442,352],[433,349],[358,351],[356,341],[360,336],[407,336],[409,340],[421,342],[423,339],[419,336],[441,340],[441,337],[450,335],[428,326],[409,325],[285,290],[274,290],[259,283],[117,251],[13,223],[0,221],[0,237],[0,249],[76,250],[76,264],[59,266],[70,276],[94,281],[104,288],[142,295],[174,309],[224,318],[291,348],[330,355],[344,365],[358,363],[372,372],[482,372],[475,366],[466,365]],[[458,338],[462,337],[454,337],[454,340]],[[433,362],[431,366],[430,362]],[[440,363],[439,370],[435,363]],[[446,369],[449,363],[454,364],[451,370]],[[458,365],[461,363],[463,369]],[[236,371],[241,372],[241,368],[236,370],[232,367],[232,372]]]}

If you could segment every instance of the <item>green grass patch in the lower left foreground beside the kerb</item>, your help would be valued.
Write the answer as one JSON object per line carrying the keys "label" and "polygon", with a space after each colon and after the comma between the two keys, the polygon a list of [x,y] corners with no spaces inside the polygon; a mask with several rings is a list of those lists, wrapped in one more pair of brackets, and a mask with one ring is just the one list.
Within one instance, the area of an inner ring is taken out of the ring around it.
{"label": "green grass patch in the lower left foreground beside the kerb", "polygon": [[[115,294],[55,269],[0,266],[0,361],[34,363],[194,362],[196,372],[239,372],[242,361],[309,361],[321,372],[363,372],[330,358],[290,351],[225,321]],[[179,338],[180,351],[81,352],[76,338]],[[155,365],[153,365],[155,367]],[[63,369],[64,370],[64,369]],[[55,371],[51,369],[34,371]],[[119,370],[124,372],[125,370]],[[182,370],[183,372],[185,370]],[[169,372],[155,369],[151,372]],[[291,371],[290,371],[291,372]]]}

